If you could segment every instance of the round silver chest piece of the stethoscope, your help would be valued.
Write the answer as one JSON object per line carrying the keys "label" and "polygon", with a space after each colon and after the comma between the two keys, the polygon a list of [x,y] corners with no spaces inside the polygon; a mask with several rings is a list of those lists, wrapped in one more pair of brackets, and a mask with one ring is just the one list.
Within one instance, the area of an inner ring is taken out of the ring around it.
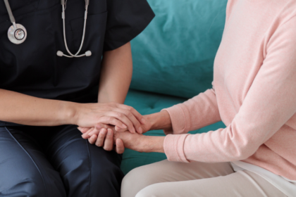
{"label": "round silver chest piece of the stethoscope", "polygon": [[11,25],[11,27],[9,27],[7,35],[8,39],[13,44],[22,44],[27,38],[27,30],[25,30],[25,27],[23,25],[13,24]]}

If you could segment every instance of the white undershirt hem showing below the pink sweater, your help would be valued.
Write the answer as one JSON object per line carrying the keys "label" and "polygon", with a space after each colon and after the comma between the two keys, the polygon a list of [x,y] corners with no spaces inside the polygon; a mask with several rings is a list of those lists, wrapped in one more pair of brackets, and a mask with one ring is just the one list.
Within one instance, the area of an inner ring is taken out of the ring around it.
{"label": "white undershirt hem showing below the pink sweater", "polygon": [[273,172],[270,172],[269,170],[265,170],[262,167],[245,163],[242,161],[231,162],[231,165],[233,166],[233,170],[235,170],[235,172],[239,170],[249,170],[250,172],[254,172],[259,176],[263,177],[264,179],[266,179],[266,181],[271,183],[281,192],[285,193],[285,195],[287,195],[288,197],[296,196],[296,181],[289,180],[285,177],[281,177],[277,174],[273,174]]}

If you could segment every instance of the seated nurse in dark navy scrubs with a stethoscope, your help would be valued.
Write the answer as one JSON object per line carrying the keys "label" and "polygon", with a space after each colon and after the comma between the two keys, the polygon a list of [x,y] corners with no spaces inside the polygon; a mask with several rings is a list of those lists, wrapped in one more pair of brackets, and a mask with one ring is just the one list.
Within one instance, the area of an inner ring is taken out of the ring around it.
{"label": "seated nurse in dark navy scrubs with a stethoscope", "polygon": [[[9,0],[25,27],[17,35],[25,41],[15,44],[0,1],[0,196],[120,196],[121,155],[89,144],[77,127],[142,133],[142,116],[122,103],[132,75],[130,40],[154,18],[149,4],[61,3]],[[81,43],[87,56],[71,56]]]}

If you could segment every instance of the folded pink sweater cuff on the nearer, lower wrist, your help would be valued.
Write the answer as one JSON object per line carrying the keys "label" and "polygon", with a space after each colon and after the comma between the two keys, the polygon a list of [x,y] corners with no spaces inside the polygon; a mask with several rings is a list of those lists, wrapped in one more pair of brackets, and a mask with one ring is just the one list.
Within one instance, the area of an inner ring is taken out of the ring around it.
{"label": "folded pink sweater cuff on the nearer, lower wrist", "polygon": [[185,157],[184,143],[189,134],[171,135],[168,134],[164,139],[164,153],[169,161],[190,163]]}

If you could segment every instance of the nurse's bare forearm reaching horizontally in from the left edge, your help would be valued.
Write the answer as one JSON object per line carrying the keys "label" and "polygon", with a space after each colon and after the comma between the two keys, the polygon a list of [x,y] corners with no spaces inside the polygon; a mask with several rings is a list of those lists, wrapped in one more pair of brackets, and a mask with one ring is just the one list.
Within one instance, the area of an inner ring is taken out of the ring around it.
{"label": "nurse's bare forearm reaching horizontally in from the left edge", "polygon": [[73,124],[74,105],[0,89],[0,120],[6,122],[32,126]]}

